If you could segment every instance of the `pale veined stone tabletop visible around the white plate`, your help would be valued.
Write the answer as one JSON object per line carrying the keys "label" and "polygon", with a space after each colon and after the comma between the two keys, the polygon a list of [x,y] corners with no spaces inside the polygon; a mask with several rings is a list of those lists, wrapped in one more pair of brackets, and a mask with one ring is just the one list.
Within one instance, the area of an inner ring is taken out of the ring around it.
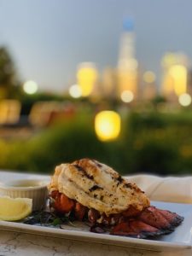
{"label": "pale veined stone tabletop visible around the white plate", "polygon": [[[24,174],[16,172],[0,171],[0,182],[19,178],[48,178],[47,176]],[[191,250],[179,252],[154,253],[139,248],[118,247],[113,245],[97,244],[86,241],[73,241],[63,238],[53,238],[45,236],[27,235],[21,232],[4,231],[0,232],[0,256],[12,255],[68,255],[68,256],[88,256],[88,255],[110,255],[110,256],[189,256]]]}

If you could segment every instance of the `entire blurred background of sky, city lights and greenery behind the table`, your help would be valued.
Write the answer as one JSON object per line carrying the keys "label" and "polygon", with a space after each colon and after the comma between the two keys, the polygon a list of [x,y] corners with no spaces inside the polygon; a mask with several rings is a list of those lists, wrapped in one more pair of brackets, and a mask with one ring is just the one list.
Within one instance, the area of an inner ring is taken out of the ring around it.
{"label": "entire blurred background of sky, city lights and greenery behind the table", "polygon": [[0,168],[192,173],[190,0],[0,0]]}

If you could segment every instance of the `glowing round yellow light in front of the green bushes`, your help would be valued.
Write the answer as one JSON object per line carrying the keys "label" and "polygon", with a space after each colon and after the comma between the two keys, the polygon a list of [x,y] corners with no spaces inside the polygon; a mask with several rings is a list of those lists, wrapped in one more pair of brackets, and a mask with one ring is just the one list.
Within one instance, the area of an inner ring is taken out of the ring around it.
{"label": "glowing round yellow light in front of the green bushes", "polygon": [[110,141],[119,136],[120,116],[114,111],[102,111],[96,114],[96,135],[101,141]]}

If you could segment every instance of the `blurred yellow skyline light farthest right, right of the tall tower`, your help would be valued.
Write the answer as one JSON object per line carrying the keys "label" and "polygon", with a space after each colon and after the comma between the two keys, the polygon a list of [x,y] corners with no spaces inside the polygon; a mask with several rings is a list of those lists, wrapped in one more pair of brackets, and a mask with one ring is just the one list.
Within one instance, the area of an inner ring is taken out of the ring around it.
{"label": "blurred yellow skyline light farthest right, right of the tall tower", "polygon": [[183,65],[173,65],[169,69],[169,73],[172,76],[174,90],[177,96],[186,93],[187,90],[187,68]]}

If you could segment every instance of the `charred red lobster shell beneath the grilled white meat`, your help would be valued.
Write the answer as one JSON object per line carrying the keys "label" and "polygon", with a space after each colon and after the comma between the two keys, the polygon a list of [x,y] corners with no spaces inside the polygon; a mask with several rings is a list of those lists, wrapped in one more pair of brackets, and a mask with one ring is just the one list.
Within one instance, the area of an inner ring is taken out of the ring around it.
{"label": "charred red lobster shell beneath the grilled white meat", "polygon": [[92,224],[90,230],[93,232],[97,232],[97,227],[110,227],[111,235],[148,238],[172,233],[183,221],[183,217],[177,213],[156,207],[147,207],[142,212],[131,209],[107,216],[104,213],[100,214],[96,209],[84,207],[58,190],[52,191],[50,197],[53,199],[52,207],[56,212],[73,212],[75,218],[80,221],[89,219]]}

